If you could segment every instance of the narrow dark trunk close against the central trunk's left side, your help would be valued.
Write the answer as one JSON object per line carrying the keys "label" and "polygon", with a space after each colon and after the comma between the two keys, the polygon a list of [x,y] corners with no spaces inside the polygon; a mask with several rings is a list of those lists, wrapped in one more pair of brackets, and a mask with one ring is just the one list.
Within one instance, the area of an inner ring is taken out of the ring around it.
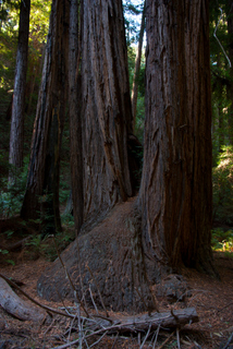
{"label": "narrow dark trunk close against the central trunk's left side", "polygon": [[79,43],[78,43],[78,3],[71,0],[70,33],[69,33],[69,109],[71,135],[71,180],[73,215],[76,233],[83,224],[83,151],[82,122],[79,108]]}

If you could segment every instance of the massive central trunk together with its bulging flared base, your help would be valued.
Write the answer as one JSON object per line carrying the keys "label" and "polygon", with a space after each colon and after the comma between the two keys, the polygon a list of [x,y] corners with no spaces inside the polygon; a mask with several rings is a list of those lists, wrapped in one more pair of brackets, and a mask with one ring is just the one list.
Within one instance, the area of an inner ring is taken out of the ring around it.
{"label": "massive central trunk together with its bulging flared base", "polygon": [[[62,260],[79,296],[83,282],[89,301],[90,288],[99,303],[98,287],[106,306],[142,310],[151,296],[134,201],[125,203],[133,193],[127,148],[133,135],[122,3],[82,4],[84,224]],[[38,281],[39,294],[48,299],[58,300],[58,289],[61,297],[73,296],[59,261]]]}

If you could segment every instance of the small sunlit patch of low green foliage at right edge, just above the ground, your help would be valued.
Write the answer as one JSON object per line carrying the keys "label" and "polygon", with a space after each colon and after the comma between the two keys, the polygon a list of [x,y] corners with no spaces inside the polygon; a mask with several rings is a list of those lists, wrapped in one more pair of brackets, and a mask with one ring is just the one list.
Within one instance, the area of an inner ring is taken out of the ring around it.
{"label": "small sunlit patch of low green foliage at right edge, just above the ground", "polygon": [[233,252],[233,230],[223,231],[221,228],[212,230],[211,245],[213,251]]}

